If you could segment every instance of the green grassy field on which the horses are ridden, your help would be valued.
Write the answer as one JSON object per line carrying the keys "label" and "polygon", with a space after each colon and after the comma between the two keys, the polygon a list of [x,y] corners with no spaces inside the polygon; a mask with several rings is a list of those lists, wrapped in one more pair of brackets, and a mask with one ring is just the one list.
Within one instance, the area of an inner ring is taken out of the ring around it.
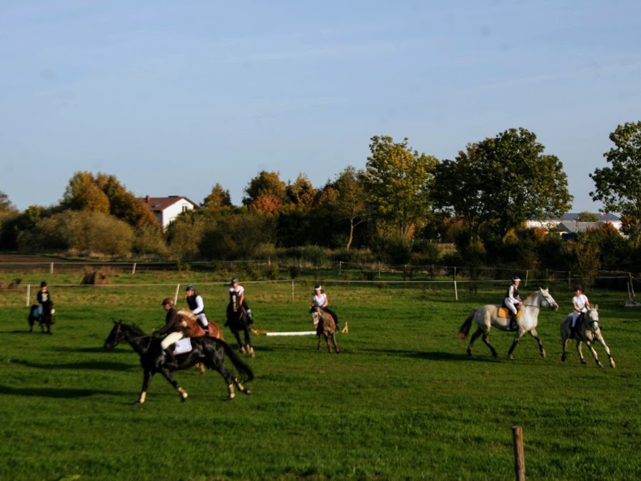
{"label": "green grassy field on which the horses are ridden", "polygon": [[[0,479],[2,480],[512,480],[512,430],[523,427],[528,480],[641,477],[641,362],[627,293],[589,292],[617,368],[599,369],[584,349],[560,362],[567,285],[550,285],[560,312],[542,312],[541,358],[524,338],[490,335],[472,358],[456,332],[468,312],[500,301],[505,286],[475,295],[431,283],[332,283],[322,275],[244,283],[256,328],[311,330],[311,286],[322,280],[348,322],[342,352],[316,338],[254,338],[251,396],[224,402],[218,373],[176,373],[189,393],[154,378],[142,406],[142,370],[128,345],[106,353],[112,320],[151,331],[161,300],[196,283],[210,318],[223,322],[226,286],[211,276],[149,273],[78,287],[77,274],[46,276],[56,303],[51,336],[29,333],[26,284],[0,276]],[[31,302],[35,299],[32,287]],[[523,288],[531,293],[535,285]],[[226,331],[226,339],[231,334]],[[602,360],[607,356],[597,348]]]}

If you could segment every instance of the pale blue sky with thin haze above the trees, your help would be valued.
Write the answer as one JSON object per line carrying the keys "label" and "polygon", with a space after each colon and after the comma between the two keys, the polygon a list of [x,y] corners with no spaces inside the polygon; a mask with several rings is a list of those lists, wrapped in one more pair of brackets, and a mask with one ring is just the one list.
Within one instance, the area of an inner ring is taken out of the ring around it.
{"label": "pale blue sky with thin haze above the trees", "polygon": [[524,127],[575,202],[641,120],[641,2],[0,2],[0,191],[59,202],[76,171],[136,196],[239,205],[260,171],[315,187],[370,138],[455,158]]}

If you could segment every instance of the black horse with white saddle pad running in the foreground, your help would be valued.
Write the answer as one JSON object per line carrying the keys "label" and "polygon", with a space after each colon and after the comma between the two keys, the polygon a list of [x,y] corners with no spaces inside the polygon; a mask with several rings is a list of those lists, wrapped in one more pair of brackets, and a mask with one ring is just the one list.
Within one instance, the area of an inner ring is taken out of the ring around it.
{"label": "black horse with white saddle pad running in the foreground", "polygon": [[104,343],[105,350],[112,350],[119,343],[126,340],[133,350],[140,355],[140,363],[143,366],[143,389],[138,398],[138,404],[145,402],[147,396],[147,388],[151,382],[151,378],[156,373],[161,373],[165,376],[166,380],[178,390],[181,395],[181,400],[187,398],[187,392],[181,388],[176,380],[171,375],[171,371],[191,368],[197,363],[203,363],[208,368],[217,370],[221,373],[227,383],[229,395],[227,400],[232,400],[236,397],[233,385],[236,384],[238,390],[245,394],[251,394],[251,391],[244,388],[238,378],[231,370],[228,370],[223,361],[225,355],[233,363],[234,368],[238,370],[239,375],[243,382],[249,382],[253,379],[253,372],[251,368],[233,352],[232,348],[223,340],[211,338],[208,336],[201,336],[199,338],[191,338],[192,350],[188,353],[176,355],[177,365],[168,365],[166,363],[166,355],[161,348],[161,339],[155,338],[151,335],[143,333],[143,331],[135,325],[123,324],[121,320],[114,323],[111,333],[109,333],[107,340]]}

